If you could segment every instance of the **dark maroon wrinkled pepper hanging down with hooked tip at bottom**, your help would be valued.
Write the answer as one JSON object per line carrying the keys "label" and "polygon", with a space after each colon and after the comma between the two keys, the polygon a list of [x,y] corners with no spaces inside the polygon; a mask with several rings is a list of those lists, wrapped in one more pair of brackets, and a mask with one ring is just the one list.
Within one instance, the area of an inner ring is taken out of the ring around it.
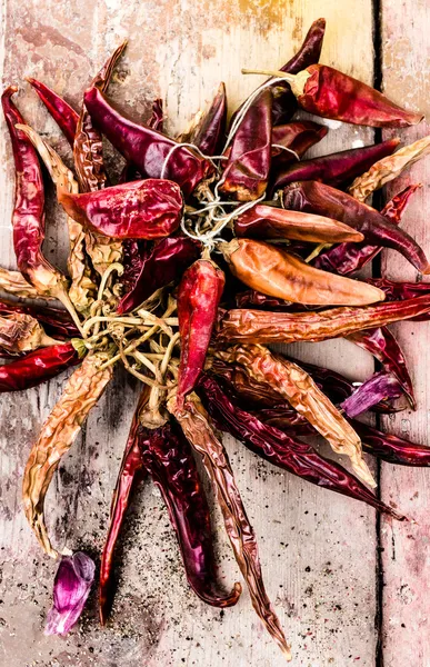
{"label": "dark maroon wrinkled pepper hanging down with hooked tip at bottom", "polygon": [[140,427],[138,439],[143,465],[168,508],[191,588],[212,607],[236,605],[240,584],[229,594],[217,586],[209,506],[188,440],[170,424],[154,430]]}

